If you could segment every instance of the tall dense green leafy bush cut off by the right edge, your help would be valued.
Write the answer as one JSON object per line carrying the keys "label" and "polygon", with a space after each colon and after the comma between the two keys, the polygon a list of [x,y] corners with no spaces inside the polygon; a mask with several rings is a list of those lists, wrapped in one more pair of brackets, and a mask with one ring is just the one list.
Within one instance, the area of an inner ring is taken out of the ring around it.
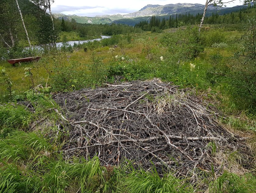
{"label": "tall dense green leafy bush cut off by the right edge", "polygon": [[244,26],[247,32],[242,37],[240,47],[234,54],[231,83],[234,94],[249,103],[256,102],[256,18],[248,18]]}

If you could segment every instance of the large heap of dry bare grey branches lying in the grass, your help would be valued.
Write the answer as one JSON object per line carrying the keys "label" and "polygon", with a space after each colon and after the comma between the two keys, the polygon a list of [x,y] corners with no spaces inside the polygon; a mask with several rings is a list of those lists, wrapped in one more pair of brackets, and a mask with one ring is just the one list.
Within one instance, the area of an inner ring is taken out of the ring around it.
{"label": "large heap of dry bare grey branches lying in the grass", "polygon": [[69,122],[62,152],[87,159],[97,155],[103,165],[132,160],[149,169],[154,164],[183,176],[195,168],[218,172],[214,153],[247,151],[245,138],[221,126],[218,113],[190,93],[156,80],[59,93],[54,100]]}

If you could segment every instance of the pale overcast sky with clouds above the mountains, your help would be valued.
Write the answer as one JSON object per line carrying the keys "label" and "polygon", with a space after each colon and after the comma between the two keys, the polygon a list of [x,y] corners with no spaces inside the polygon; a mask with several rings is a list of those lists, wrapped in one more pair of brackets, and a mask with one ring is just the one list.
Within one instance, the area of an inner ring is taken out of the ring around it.
{"label": "pale overcast sky with clouds above the mountains", "polygon": [[[61,12],[66,15],[78,15],[94,17],[97,15],[127,14],[139,11],[148,4],[167,5],[175,3],[200,3],[205,0],[55,0],[52,4],[52,12]],[[227,7],[242,5],[240,0],[227,4]]]}

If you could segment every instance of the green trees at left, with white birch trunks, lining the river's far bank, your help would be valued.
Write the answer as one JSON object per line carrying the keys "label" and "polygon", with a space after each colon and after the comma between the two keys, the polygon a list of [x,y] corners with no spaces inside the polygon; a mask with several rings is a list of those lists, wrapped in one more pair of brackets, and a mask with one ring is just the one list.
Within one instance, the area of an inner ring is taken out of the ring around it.
{"label": "green trees at left, with white birch trunks, lining the river's far bank", "polygon": [[122,24],[81,24],[52,17],[54,0],[1,0],[0,49],[32,45],[55,46],[60,33],[77,32],[81,37],[113,35],[140,31]]}

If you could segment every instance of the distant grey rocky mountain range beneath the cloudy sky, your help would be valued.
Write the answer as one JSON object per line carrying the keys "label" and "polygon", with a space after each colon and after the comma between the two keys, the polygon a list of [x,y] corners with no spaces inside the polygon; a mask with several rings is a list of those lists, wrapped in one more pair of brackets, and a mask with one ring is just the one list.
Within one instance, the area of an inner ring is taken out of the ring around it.
{"label": "distant grey rocky mountain range beneath the cloudy sky", "polygon": [[[231,8],[226,7],[218,7],[217,9],[214,6],[208,6],[207,15],[211,15],[212,13],[217,13],[219,15],[223,15],[226,13],[230,13],[232,11],[237,11],[239,9],[244,8],[244,5],[239,5]],[[197,13],[203,13],[204,5],[202,4],[192,4],[192,3],[176,3],[176,4],[168,4],[168,5],[146,5],[142,9],[137,12],[128,13],[125,15],[102,15],[96,17],[86,17],[86,16],[76,16],[76,15],[64,15],[63,13],[53,13],[55,18],[61,19],[62,17],[65,20],[75,19],[78,23],[91,23],[91,24],[105,24],[105,23],[122,23],[130,26],[134,26],[136,23],[150,19],[151,16],[155,15],[160,17],[161,19],[165,17],[168,19],[170,15],[173,14],[186,14],[186,12],[190,12],[190,14],[195,15]]]}

